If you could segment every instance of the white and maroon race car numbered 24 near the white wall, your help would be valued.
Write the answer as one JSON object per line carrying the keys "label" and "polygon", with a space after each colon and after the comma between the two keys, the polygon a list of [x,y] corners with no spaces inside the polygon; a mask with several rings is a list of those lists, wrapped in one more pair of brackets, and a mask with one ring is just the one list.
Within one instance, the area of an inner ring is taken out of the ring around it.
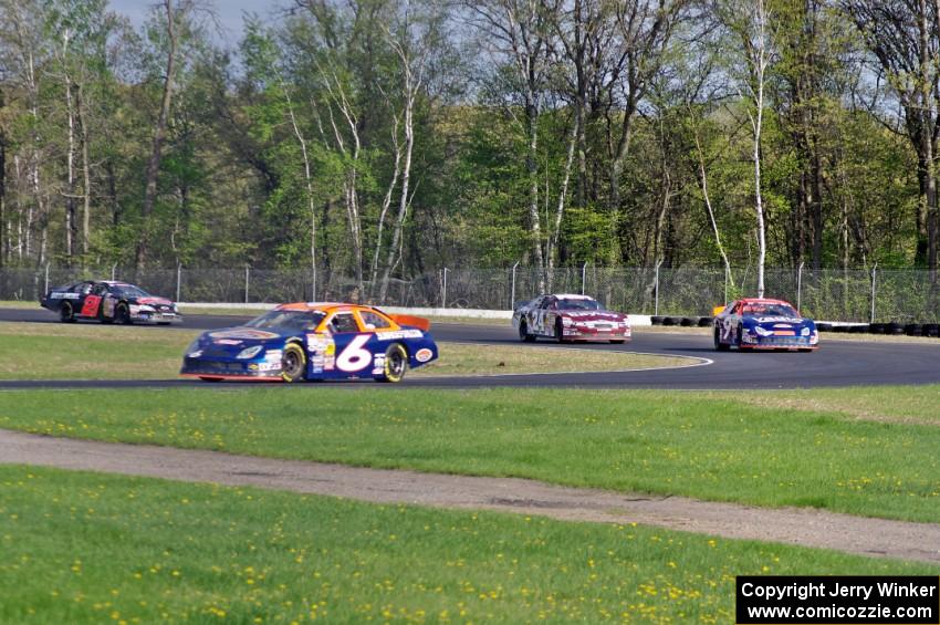
{"label": "white and maroon race car numbered 24 near the white wall", "polygon": [[540,295],[522,302],[512,313],[512,325],[519,340],[526,343],[539,336],[566,341],[609,341],[624,343],[630,338],[629,317],[604,310],[587,295]]}

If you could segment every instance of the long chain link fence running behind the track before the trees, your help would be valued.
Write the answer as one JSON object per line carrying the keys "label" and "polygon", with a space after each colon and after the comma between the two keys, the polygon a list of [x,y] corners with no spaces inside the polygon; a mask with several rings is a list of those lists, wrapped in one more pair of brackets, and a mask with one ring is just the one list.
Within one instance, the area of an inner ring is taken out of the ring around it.
{"label": "long chain link fence running behind the track before the trees", "polygon": [[[50,288],[82,279],[116,279],[181,302],[276,303],[353,301],[389,306],[511,310],[539,294],[532,268],[450,269],[393,279],[384,301],[378,284],[310,269],[54,268],[0,270],[0,300],[38,301]],[[786,270],[765,272],[765,294],[787,300],[807,316],[828,321],[940,322],[940,283],[921,270]],[[756,293],[753,268],[556,268],[546,291],[585,293],[612,310],[635,314],[708,316],[713,306]]]}

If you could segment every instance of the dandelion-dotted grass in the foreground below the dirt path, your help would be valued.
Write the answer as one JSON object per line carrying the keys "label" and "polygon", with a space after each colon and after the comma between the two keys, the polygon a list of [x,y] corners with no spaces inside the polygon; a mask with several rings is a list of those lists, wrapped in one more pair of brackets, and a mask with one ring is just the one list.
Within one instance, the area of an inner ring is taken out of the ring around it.
{"label": "dandelion-dotted grass in the foreground below the dirt path", "polygon": [[4,623],[733,621],[742,574],[927,565],[633,525],[0,466]]}

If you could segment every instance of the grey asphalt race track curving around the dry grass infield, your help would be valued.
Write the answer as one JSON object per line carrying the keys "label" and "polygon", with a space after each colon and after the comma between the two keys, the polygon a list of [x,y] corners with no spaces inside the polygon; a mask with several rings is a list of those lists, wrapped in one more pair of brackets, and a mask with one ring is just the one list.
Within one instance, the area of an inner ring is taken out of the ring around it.
{"label": "grey asphalt race track curving around the dry grass infield", "polygon": [[[176,332],[229,327],[250,317],[223,315],[189,315],[179,326],[138,326],[140,332]],[[59,323],[44,310],[0,309],[0,323]],[[506,323],[469,325],[435,323],[431,333],[438,341],[462,341],[485,344],[519,344],[515,332]],[[481,388],[493,386],[584,387],[584,388],[675,388],[675,389],[751,389],[810,388],[855,385],[904,385],[940,383],[940,340],[917,342],[845,341],[823,335],[822,347],[813,353],[796,352],[716,352],[711,337],[698,333],[675,333],[634,329],[634,338],[625,345],[575,344],[557,345],[549,341],[535,343],[561,348],[610,350],[643,352],[668,356],[704,358],[706,364],[686,368],[647,369],[635,372],[501,375],[474,377],[407,378],[398,385],[368,382],[335,383],[331,386],[373,387],[439,387]],[[529,347],[526,345],[525,347]],[[0,352],[2,346],[0,345]],[[237,386],[239,383],[222,384]],[[2,388],[129,388],[186,387],[219,388],[189,379],[154,381],[4,381]],[[322,387],[318,384],[310,388]]]}

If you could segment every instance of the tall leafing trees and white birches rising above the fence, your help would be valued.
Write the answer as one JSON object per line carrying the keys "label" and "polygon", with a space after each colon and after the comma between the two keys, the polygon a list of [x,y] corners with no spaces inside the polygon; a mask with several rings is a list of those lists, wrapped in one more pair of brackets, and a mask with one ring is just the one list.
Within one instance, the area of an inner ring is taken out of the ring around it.
{"label": "tall leafing trees and white birches rising above the fence", "polygon": [[0,267],[936,278],[936,1],[222,8],[0,0]]}

